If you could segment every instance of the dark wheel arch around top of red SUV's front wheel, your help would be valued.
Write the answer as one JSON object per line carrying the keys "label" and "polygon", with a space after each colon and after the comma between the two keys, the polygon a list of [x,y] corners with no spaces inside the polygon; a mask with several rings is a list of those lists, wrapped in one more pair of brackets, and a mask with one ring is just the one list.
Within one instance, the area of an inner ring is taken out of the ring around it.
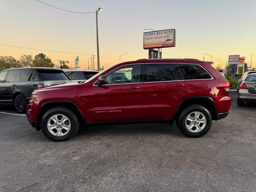
{"label": "dark wheel arch around top of red SUV's front wheel", "polygon": [[74,112],[74,114],[77,116],[78,121],[80,123],[85,124],[86,121],[85,121],[85,118],[84,118],[82,112],[80,111],[78,106],[72,101],[50,101],[50,102],[46,102],[46,103],[42,104],[41,108],[38,111],[38,116],[37,116],[37,119],[36,119],[38,124],[40,124],[40,122],[42,120],[42,116],[45,114],[45,112],[50,110],[51,108],[54,108],[54,107],[68,108],[69,110]]}

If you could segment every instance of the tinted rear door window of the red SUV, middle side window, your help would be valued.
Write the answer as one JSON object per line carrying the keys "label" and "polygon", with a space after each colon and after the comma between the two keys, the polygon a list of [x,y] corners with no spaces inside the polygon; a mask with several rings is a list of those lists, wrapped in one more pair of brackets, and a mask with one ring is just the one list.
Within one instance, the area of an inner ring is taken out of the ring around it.
{"label": "tinted rear door window of the red SUV, middle side window", "polygon": [[182,80],[174,64],[148,64],[147,82]]}

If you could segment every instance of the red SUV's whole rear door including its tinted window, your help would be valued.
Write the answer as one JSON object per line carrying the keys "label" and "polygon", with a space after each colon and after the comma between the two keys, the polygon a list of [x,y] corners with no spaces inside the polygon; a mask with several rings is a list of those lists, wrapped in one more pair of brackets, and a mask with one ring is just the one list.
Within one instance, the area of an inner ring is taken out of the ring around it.
{"label": "red SUV's whole rear door including its tinted window", "polygon": [[176,64],[148,64],[142,92],[143,120],[172,119],[188,87]]}

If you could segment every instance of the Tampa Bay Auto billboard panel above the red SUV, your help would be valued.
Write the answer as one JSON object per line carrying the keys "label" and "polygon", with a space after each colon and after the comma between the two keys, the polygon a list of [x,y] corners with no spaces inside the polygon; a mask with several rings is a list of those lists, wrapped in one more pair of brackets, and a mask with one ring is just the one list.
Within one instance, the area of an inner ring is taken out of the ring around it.
{"label": "Tampa Bay Auto billboard panel above the red SUV", "polygon": [[175,29],[151,31],[144,33],[143,48],[164,48],[175,47]]}

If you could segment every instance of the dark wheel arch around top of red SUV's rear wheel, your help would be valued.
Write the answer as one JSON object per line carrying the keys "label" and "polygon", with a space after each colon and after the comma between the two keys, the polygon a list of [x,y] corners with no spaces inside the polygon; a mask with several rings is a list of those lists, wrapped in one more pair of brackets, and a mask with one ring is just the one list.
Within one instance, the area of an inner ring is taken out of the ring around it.
{"label": "dark wheel arch around top of red SUV's rear wheel", "polygon": [[197,105],[201,105],[201,106],[205,107],[210,112],[210,114],[212,116],[212,120],[218,120],[217,108],[216,108],[212,98],[210,98],[208,96],[188,97],[188,98],[185,98],[184,100],[182,100],[182,102],[180,103],[180,105],[178,106],[178,108],[174,114],[174,119],[178,120],[182,111],[185,108],[187,108],[187,106],[190,106],[193,104],[197,104]]}

